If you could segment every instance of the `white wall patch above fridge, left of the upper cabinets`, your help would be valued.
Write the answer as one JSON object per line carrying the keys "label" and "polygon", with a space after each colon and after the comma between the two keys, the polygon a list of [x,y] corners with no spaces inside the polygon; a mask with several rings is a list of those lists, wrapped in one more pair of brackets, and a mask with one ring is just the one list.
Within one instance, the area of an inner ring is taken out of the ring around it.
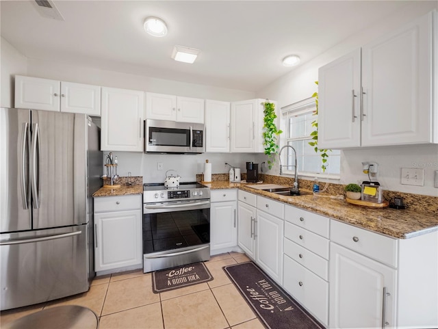
{"label": "white wall patch above fridge, left of the upper cabinets", "polygon": [[0,57],[0,107],[12,107],[14,75],[26,75],[27,59],[3,38],[0,38]]}

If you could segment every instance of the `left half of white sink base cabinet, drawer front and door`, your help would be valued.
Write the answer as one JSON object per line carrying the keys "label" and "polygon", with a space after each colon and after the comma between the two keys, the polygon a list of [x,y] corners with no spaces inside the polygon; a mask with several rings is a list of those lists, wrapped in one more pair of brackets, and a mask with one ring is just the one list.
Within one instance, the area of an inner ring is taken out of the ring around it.
{"label": "left half of white sink base cabinet, drawer front and door", "polygon": [[255,221],[257,220],[257,197],[242,190],[238,191],[237,244],[245,254],[255,260]]}

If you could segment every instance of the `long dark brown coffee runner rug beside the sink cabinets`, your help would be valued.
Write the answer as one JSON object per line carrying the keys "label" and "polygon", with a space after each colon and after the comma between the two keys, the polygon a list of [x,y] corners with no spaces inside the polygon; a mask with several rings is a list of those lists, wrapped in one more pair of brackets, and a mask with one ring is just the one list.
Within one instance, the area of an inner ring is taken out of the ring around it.
{"label": "long dark brown coffee runner rug beside the sink cabinets", "polygon": [[255,263],[224,267],[246,302],[268,329],[322,329],[292,298],[277,286]]}

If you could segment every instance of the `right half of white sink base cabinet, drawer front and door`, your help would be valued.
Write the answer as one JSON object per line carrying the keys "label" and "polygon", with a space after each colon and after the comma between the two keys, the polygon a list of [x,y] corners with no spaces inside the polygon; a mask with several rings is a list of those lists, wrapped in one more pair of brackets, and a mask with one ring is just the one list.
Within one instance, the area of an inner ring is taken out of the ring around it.
{"label": "right half of white sink base cabinet, drawer front and door", "polygon": [[283,218],[283,203],[257,196],[256,263],[280,285],[283,285]]}

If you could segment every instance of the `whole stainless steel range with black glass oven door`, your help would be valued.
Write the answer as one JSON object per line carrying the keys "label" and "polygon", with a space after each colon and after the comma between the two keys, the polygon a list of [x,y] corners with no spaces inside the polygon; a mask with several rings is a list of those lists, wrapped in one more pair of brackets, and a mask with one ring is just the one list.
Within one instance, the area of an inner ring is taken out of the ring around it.
{"label": "whole stainless steel range with black glass oven door", "polygon": [[144,273],[210,258],[210,189],[144,184]]}

